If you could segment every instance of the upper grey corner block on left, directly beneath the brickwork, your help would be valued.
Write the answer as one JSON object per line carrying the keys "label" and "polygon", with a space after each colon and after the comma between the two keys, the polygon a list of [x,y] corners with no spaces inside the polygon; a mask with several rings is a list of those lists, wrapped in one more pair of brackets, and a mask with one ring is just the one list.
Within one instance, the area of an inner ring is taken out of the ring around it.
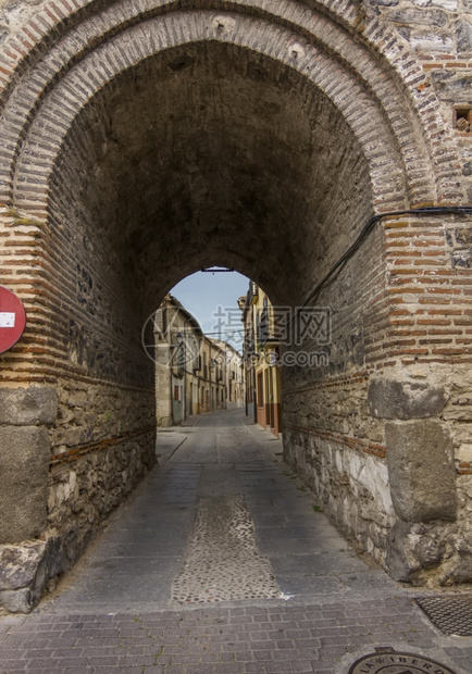
{"label": "upper grey corner block on left, directly beneath the brickwork", "polygon": [[0,389],[0,424],[13,426],[53,424],[57,415],[55,388],[30,386]]}

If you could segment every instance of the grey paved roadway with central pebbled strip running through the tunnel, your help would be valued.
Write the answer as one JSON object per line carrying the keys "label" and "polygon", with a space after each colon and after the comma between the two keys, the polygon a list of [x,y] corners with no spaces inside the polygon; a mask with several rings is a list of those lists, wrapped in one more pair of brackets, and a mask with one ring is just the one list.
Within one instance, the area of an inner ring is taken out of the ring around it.
{"label": "grey paved roadway with central pebbled strip running through the tunnel", "polygon": [[281,464],[282,442],[245,421],[243,410],[222,411],[160,432],[160,465],[50,609],[305,602],[395,589],[297,488]]}

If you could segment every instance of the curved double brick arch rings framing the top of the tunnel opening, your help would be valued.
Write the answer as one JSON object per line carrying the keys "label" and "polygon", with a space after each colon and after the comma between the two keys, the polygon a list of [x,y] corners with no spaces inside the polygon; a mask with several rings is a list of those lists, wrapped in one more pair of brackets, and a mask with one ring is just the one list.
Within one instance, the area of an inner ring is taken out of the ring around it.
{"label": "curved double brick arch rings framing the top of the tunnel opening", "polygon": [[[29,125],[37,117],[39,107],[51,98],[51,92],[55,89],[57,96],[60,95],[61,82],[64,86],[69,77],[69,114],[74,115],[74,110],[77,113],[96,87],[104,86],[113,77],[113,72],[131,67],[156,50],[199,39],[246,45],[303,73],[332,97],[333,103],[352,125],[353,133],[362,133],[369,145],[374,142],[377,150],[383,141],[388,143],[388,139],[375,140],[375,122],[380,121],[376,115],[380,114],[383,122],[387,118],[388,124],[383,123],[382,130],[385,134],[388,129],[392,134],[389,153],[400,153],[400,165],[394,174],[399,171],[407,176],[403,198],[405,194],[409,196],[409,205],[435,202],[436,196],[438,202],[457,197],[448,184],[454,175],[452,167],[448,167],[447,175],[442,175],[444,171],[438,165],[442,160],[444,163],[445,151],[451,161],[452,154],[447,134],[444,129],[439,133],[440,116],[434,97],[427,91],[428,83],[414,59],[396,45],[388,32],[371,22],[372,25],[363,27],[362,35],[357,35],[357,12],[349,4],[341,3],[336,10],[331,8],[327,16],[322,8],[322,13],[313,13],[293,2],[277,3],[272,11],[268,8],[263,0],[251,0],[232,3],[231,12],[225,13],[215,12],[210,2],[208,5],[201,3],[200,12],[192,15],[189,12],[194,9],[191,2],[184,12],[174,2],[156,7],[151,0],[146,8],[111,3],[102,11],[97,10],[96,3],[87,2],[79,12],[66,8],[58,11],[53,4],[45,2],[42,12],[30,20],[4,50],[4,133],[11,145],[3,157],[3,200],[9,199],[13,176],[22,184],[21,168],[18,172],[16,167],[21,152],[18,140],[23,143],[30,134]],[[159,43],[149,39],[153,30],[157,34],[161,30]],[[135,43],[135,51],[123,58],[129,41]],[[123,45],[121,53],[120,43]],[[99,63],[100,54],[105,53],[110,54],[110,63],[107,57]],[[76,86],[75,77],[82,82],[82,87]],[[349,90],[347,100],[341,96],[346,89]],[[53,105],[53,101],[50,104]],[[50,120],[54,120],[53,114]],[[47,125],[41,136],[46,129]],[[58,132],[59,128],[53,130],[55,137]],[[437,171],[432,183],[431,167],[435,164]],[[385,160],[383,163],[377,160],[377,170],[380,166],[386,168]],[[374,161],[371,172],[374,183],[375,167]],[[392,170],[390,165],[388,171]],[[24,179],[25,176],[23,184]],[[387,208],[393,200],[401,201],[398,195],[394,197],[399,186],[395,185],[393,176],[390,179],[389,189],[385,183],[377,186],[380,208]]]}

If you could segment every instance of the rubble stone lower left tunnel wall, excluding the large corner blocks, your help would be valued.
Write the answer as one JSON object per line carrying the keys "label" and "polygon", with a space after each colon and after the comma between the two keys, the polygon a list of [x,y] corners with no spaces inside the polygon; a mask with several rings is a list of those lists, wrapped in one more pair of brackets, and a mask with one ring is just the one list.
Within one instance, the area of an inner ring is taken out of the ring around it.
{"label": "rubble stone lower left tunnel wall, excluding the large corner blocks", "polygon": [[48,524],[86,539],[154,463],[154,397],[139,389],[60,379],[59,417],[50,429]]}

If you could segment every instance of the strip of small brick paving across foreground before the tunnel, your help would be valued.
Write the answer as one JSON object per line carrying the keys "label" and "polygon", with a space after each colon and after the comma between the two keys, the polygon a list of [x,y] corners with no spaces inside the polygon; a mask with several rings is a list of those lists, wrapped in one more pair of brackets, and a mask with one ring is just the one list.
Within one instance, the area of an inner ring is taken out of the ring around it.
{"label": "strip of small brick paving across foreground before the tunnel", "polygon": [[[368,617],[375,617],[373,624]],[[408,598],[380,599],[374,606],[368,599],[321,607],[245,604],[137,615],[36,613],[26,619],[8,619],[4,624],[3,621],[0,619],[0,626],[7,629],[7,638],[0,642],[0,671],[4,674],[34,671],[334,674],[345,671],[341,665],[347,666],[360,651],[371,652],[375,647],[388,645],[443,658],[443,662],[446,658],[457,666],[458,673],[460,667],[472,672],[469,640],[464,639],[460,646],[446,644],[444,649],[438,649],[436,632],[421,619],[419,609]],[[239,640],[261,621],[266,626],[264,650],[257,647],[257,641]],[[349,624],[352,621],[356,624]],[[325,627],[326,622],[334,624]],[[384,629],[377,629],[378,622],[385,623]],[[129,623],[136,626],[135,634],[131,634]],[[300,625],[303,628],[298,628]],[[306,638],[308,626],[310,639]],[[359,629],[365,635],[362,642]],[[98,642],[107,641],[107,646],[90,646],[92,633]],[[223,650],[219,640],[222,633],[227,637]],[[21,645],[15,640],[18,634],[25,637]],[[311,642],[310,647],[307,641]],[[14,654],[10,645],[14,645]]]}

